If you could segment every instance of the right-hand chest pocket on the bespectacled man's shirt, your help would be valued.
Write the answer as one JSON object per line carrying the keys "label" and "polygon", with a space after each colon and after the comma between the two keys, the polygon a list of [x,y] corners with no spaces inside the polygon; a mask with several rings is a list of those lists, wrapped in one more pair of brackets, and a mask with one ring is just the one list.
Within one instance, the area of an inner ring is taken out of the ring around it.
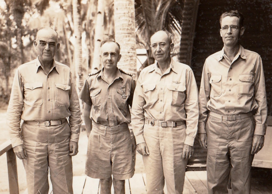
{"label": "right-hand chest pocket on the bespectacled man's shirt", "polygon": [[253,96],[255,77],[252,74],[239,75],[239,95]]}

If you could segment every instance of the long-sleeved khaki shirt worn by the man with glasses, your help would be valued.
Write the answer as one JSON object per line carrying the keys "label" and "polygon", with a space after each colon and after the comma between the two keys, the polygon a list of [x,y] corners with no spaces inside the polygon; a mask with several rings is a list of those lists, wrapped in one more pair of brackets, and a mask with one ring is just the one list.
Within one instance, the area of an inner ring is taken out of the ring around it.
{"label": "long-sleeved khaki shirt worn by the man with glasses", "polygon": [[232,62],[224,48],[206,59],[199,92],[198,133],[206,133],[209,111],[228,116],[253,112],[254,134],[265,134],[267,105],[260,55],[240,45]]}

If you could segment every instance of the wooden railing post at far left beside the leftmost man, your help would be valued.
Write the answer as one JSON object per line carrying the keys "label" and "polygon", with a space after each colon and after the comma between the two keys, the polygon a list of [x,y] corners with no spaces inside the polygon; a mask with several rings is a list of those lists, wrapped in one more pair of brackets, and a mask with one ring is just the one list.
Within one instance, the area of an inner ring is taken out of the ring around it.
{"label": "wooden railing post at far left beside the leftmost man", "polygon": [[19,194],[16,156],[12,148],[6,152],[6,159],[7,159],[8,174],[9,174],[9,193]]}

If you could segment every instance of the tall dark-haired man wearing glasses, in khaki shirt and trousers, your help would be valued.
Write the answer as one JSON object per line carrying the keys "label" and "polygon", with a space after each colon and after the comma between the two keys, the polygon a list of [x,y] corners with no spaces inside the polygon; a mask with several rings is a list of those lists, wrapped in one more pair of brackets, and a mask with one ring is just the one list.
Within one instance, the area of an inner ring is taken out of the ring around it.
{"label": "tall dark-haired man wearing glasses, in khaki shirt and trousers", "polygon": [[[208,193],[250,193],[251,164],[266,133],[266,91],[260,55],[244,49],[243,16],[220,17],[224,47],[204,64],[199,92],[198,141],[208,149]],[[205,127],[205,121],[208,117]]]}

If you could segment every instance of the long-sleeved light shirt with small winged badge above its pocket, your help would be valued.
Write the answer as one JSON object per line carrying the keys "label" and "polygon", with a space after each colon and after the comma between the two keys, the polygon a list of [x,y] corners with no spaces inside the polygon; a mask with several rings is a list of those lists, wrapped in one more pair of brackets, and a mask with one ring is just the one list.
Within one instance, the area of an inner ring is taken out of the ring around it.
{"label": "long-sleeved light shirt with small winged badge above its pocket", "polygon": [[137,144],[144,143],[145,117],[158,121],[185,121],[184,144],[193,146],[198,124],[198,89],[188,65],[171,59],[161,73],[157,63],[144,68],[138,78],[131,110]]}

